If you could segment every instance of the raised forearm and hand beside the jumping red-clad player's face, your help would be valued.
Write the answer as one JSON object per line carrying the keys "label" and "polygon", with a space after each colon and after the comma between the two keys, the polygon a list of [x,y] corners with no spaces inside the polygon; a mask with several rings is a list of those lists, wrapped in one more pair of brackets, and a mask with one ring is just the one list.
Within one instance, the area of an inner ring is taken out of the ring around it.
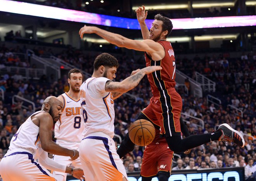
{"label": "raised forearm and hand beside the jumping red-clad player's face", "polygon": [[145,12],[145,6],[138,7],[136,10],[137,20],[140,24],[140,30],[142,33],[143,40],[149,39],[149,28],[147,28],[147,24],[145,19],[147,18],[147,11]]}

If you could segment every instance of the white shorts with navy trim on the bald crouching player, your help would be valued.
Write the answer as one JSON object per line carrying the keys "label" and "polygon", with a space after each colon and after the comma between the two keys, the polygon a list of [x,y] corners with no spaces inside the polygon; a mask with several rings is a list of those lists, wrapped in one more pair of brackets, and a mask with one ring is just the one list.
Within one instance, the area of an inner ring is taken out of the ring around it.
{"label": "white shorts with navy trim on the bald crouching player", "polygon": [[33,159],[29,152],[7,152],[0,162],[4,181],[55,181],[52,174]]}

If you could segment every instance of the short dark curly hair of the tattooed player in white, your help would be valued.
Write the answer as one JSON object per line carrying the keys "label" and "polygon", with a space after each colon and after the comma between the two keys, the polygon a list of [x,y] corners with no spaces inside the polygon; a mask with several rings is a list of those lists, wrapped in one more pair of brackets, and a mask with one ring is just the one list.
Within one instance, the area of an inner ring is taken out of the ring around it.
{"label": "short dark curly hair of the tattooed player in white", "polygon": [[116,57],[109,53],[101,53],[98,55],[93,63],[94,70],[98,70],[100,66],[106,67],[119,67],[118,60]]}

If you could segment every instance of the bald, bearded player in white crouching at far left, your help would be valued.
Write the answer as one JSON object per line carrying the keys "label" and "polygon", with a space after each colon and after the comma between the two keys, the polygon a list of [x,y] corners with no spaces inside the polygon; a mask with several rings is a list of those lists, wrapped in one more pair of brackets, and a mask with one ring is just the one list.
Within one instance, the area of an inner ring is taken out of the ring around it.
{"label": "bald, bearded player in white crouching at far left", "polygon": [[[6,181],[54,181],[52,174],[38,164],[35,155],[38,148],[55,155],[63,155],[75,160],[77,150],[61,147],[52,141],[52,126],[61,116],[62,102],[54,97],[47,97],[42,110],[32,114],[12,137],[8,152],[0,162],[0,174]],[[38,153],[38,154],[37,154]],[[73,170],[74,172],[74,170]]]}

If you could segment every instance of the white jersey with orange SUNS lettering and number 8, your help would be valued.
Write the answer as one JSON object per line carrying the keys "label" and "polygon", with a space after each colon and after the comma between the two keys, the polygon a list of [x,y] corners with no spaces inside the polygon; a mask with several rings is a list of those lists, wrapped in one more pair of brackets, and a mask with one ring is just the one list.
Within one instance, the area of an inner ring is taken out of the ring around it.
{"label": "white jersey with orange SUNS lettering and number 8", "polygon": [[63,93],[61,96],[64,98],[64,108],[60,120],[55,123],[55,138],[80,143],[85,128],[80,99],[74,100],[67,93]]}

